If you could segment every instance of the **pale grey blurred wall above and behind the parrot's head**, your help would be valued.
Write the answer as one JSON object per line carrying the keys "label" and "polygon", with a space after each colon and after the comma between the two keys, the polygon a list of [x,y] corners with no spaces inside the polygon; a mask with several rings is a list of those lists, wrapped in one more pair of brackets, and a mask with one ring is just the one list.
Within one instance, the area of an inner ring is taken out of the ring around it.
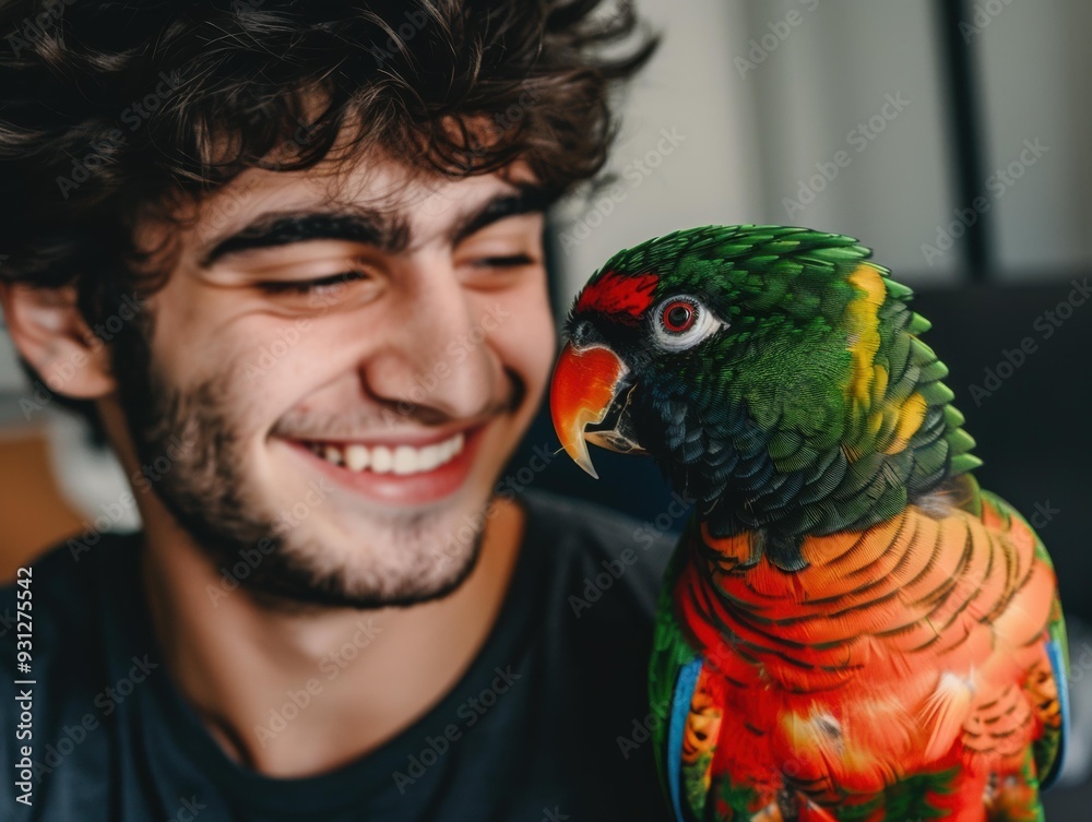
{"label": "pale grey blurred wall above and behind the parrot's head", "polygon": [[[937,246],[958,210],[974,211],[956,167],[961,115],[973,116],[980,133],[985,179],[975,194],[986,202],[978,218],[989,225],[989,281],[1065,278],[1092,260],[1089,4],[642,5],[665,33],[663,49],[626,107],[613,163],[621,202],[602,221],[594,204],[567,215],[571,225],[560,221],[570,288],[626,245],[702,223],[836,230],[874,247],[909,285],[970,282],[963,238]],[[945,8],[963,10],[956,25]],[[972,72],[972,111],[953,110],[952,39]],[[656,153],[662,129],[685,140],[652,159],[656,167],[644,164],[648,174],[636,170],[634,160]],[[844,167],[838,152],[847,155]],[[581,219],[600,225],[585,233]]]}

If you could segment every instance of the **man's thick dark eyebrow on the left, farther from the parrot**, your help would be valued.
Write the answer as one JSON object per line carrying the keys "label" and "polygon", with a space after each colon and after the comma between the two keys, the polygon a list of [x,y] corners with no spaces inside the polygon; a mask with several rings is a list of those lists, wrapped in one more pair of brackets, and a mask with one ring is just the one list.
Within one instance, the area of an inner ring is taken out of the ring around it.
{"label": "man's thick dark eyebrow on the left, farther from the parrot", "polygon": [[408,239],[408,226],[369,210],[271,213],[218,241],[201,258],[201,266],[207,269],[229,254],[307,240],[361,242],[394,252],[403,250]]}

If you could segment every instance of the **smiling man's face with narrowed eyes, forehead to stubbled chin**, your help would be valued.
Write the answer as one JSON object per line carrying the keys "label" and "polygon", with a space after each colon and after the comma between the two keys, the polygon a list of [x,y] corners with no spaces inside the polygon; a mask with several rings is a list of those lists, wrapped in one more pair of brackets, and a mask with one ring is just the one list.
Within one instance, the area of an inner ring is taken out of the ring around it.
{"label": "smiling man's face with narrowed eyes, forehead to stubbled chin", "polygon": [[[135,456],[192,446],[156,497],[217,568],[273,535],[252,595],[370,608],[452,592],[478,541],[446,537],[488,502],[553,358],[527,171],[406,186],[369,160],[337,181],[348,199],[321,167],[247,171],[191,229],[149,238],[181,251],[150,300],[164,354],[133,365],[150,379],[122,403]],[[246,205],[204,230],[236,190]]]}

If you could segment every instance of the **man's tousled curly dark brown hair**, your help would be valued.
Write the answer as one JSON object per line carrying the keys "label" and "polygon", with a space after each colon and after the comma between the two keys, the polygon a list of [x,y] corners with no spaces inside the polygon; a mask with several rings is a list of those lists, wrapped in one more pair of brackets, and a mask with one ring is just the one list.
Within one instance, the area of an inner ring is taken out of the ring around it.
{"label": "man's tousled curly dark brown hair", "polygon": [[[656,45],[630,0],[601,5],[8,2],[0,277],[73,285],[95,322],[138,282],[146,260],[133,247],[138,218],[170,218],[247,168],[334,159],[346,134],[337,159],[378,147],[461,177],[519,157],[560,195],[601,170],[614,81]],[[124,288],[119,276],[131,277]]]}

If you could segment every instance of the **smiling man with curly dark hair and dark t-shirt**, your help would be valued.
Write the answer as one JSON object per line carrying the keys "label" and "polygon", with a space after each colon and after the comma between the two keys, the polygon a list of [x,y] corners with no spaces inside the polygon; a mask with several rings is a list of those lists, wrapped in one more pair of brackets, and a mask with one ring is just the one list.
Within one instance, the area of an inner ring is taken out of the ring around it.
{"label": "smiling man with curly dark hair and dark t-shirt", "polygon": [[666,545],[497,490],[651,51],[594,7],[4,7],[4,315],[143,529],[3,592],[3,819],[666,818]]}

